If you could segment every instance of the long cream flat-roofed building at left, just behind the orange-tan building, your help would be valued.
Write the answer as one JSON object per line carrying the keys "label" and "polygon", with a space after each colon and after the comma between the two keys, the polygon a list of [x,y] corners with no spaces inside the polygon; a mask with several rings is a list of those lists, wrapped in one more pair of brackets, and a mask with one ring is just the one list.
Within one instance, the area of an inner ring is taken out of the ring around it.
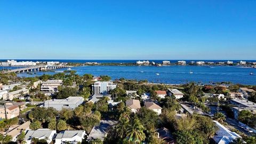
{"label": "long cream flat-roofed building at left, just behind the orange-tan building", "polygon": [[[21,89],[3,94],[3,100],[22,99],[22,95],[28,94],[28,89]],[[24,97],[23,97],[24,98]]]}

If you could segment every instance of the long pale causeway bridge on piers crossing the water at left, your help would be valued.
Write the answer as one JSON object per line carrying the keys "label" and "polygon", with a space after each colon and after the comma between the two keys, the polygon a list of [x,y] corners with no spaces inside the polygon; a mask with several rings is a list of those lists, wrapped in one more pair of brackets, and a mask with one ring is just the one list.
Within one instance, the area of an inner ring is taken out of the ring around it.
{"label": "long pale causeway bridge on piers crossing the water at left", "polygon": [[24,68],[17,68],[11,69],[7,71],[2,71],[2,73],[24,73],[28,71],[42,71],[42,70],[52,70],[52,69],[59,69],[59,68],[69,68],[71,66],[32,66],[32,67],[24,67]]}

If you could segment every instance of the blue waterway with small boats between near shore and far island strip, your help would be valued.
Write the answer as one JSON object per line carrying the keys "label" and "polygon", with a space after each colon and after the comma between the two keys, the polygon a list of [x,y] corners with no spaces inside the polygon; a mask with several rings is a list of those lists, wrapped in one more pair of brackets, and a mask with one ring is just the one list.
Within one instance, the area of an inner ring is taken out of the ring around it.
{"label": "blue waterway with small boats between near shore and far island strip", "polygon": [[[2,68],[0,67],[0,69]],[[113,80],[124,77],[138,80],[147,79],[149,82],[167,84],[184,84],[194,81],[202,84],[232,82],[256,85],[256,68],[244,68],[241,66],[213,66],[213,68],[208,66],[81,66],[72,67],[71,69],[76,70],[79,75],[86,73],[94,76],[108,75]],[[62,70],[67,70],[67,68],[46,72],[38,71],[35,75],[55,74],[60,73]],[[190,74],[190,71],[193,74]],[[250,75],[250,73],[254,75]],[[34,74],[20,73],[18,76],[34,77]]]}

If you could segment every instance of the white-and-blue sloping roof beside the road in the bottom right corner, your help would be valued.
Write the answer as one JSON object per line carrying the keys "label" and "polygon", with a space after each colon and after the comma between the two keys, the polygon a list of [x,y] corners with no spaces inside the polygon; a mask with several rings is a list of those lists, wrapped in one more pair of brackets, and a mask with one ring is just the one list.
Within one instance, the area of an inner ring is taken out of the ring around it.
{"label": "white-and-blue sloping roof beside the road in the bottom right corner", "polygon": [[218,130],[215,132],[216,135],[213,136],[213,140],[218,144],[228,144],[237,138],[242,138],[239,134],[231,132],[227,127],[223,126],[217,121],[213,121],[218,127]]}

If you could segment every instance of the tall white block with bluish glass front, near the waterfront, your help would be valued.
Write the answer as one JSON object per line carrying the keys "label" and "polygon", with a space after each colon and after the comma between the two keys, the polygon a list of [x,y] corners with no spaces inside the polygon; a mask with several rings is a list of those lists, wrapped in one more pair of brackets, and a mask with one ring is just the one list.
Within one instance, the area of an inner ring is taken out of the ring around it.
{"label": "tall white block with bluish glass front, near the waterfront", "polygon": [[110,90],[116,89],[113,82],[95,82],[93,86],[94,95],[108,94]]}

